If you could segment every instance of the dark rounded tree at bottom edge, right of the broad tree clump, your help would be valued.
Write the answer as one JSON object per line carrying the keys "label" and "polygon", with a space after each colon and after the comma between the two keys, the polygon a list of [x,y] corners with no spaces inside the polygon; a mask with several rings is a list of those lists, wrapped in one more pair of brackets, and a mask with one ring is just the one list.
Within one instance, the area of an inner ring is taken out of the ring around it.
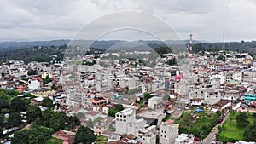
{"label": "dark rounded tree at bottom edge, right of the broad tree clump", "polygon": [[91,144],[96,141],[96,135],[88,127],[81,126],[75,135],[75,143]]}

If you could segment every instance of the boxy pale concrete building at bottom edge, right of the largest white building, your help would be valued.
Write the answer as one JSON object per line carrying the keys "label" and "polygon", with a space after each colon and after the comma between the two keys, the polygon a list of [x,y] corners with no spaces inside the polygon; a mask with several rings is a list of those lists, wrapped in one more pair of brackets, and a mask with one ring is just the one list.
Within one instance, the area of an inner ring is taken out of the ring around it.
{"label": "boxy pale concrete building at bottom edge, right of the largest white building", "polygon": [[178,124],[162,122],[160,124],[160,144],[173,144],[178,135]]}

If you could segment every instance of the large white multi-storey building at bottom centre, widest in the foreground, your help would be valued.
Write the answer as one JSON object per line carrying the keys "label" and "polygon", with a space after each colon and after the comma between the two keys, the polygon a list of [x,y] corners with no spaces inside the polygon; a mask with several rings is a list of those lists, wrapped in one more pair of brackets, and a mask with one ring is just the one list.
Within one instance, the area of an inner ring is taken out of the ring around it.
{"label": "large white multi-storey building at bottom centre, widest in the foreground", "polygon": [[138,131],[143,129],[146,121],[143,119],[136,119],[135,111],[127,108],[115,114],[115,127],[118,134],[132,134],[138,135]]}

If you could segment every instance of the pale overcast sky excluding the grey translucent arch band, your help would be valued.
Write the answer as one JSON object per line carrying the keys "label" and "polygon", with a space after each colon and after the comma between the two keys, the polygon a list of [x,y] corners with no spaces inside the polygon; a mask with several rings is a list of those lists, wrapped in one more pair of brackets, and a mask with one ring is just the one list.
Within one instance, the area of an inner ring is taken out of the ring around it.
{"label": "pale overcast sky excluding the grey translucent arch band", "polygon": [[[180,39],[189,39],[193,33],[196,40],[220,42],[225,30],[225,41],[256,40],[254,0],[0,0],[0,41],[72,39],[83,26],[122,11],[153,14],[171,26]],[[115,20],[109,21],[112,23],[102,21],[102,26],[113,26]],[[140,21],[144,26],[154,25],[152,20]],[[92,26],[90,32],[98,29]],[[166,31],[157,35],[160,32]],[[125,30],[101,38],[154,39],[146,35]]]}

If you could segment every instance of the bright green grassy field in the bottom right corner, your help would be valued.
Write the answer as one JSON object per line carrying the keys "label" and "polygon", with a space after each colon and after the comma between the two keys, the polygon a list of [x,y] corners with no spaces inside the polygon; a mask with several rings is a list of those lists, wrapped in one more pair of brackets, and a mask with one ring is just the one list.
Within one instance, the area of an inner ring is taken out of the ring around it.
{"label": "bright green grassy field in the bottom right corner", "polygon": [[[226,137],[227,139],[236,139],[236,140],[244,140],[244,131],[247,127],[240,127],[236,123],[236,116],[239,113],[237,112],[231,112],[230,117],[227,119],[227,121],[224,123],[222,130],[218,133],[219,137]],[[249,125],[253,124],[253,115],[250,113],[247,113],[248,120],[250,122]]]}

